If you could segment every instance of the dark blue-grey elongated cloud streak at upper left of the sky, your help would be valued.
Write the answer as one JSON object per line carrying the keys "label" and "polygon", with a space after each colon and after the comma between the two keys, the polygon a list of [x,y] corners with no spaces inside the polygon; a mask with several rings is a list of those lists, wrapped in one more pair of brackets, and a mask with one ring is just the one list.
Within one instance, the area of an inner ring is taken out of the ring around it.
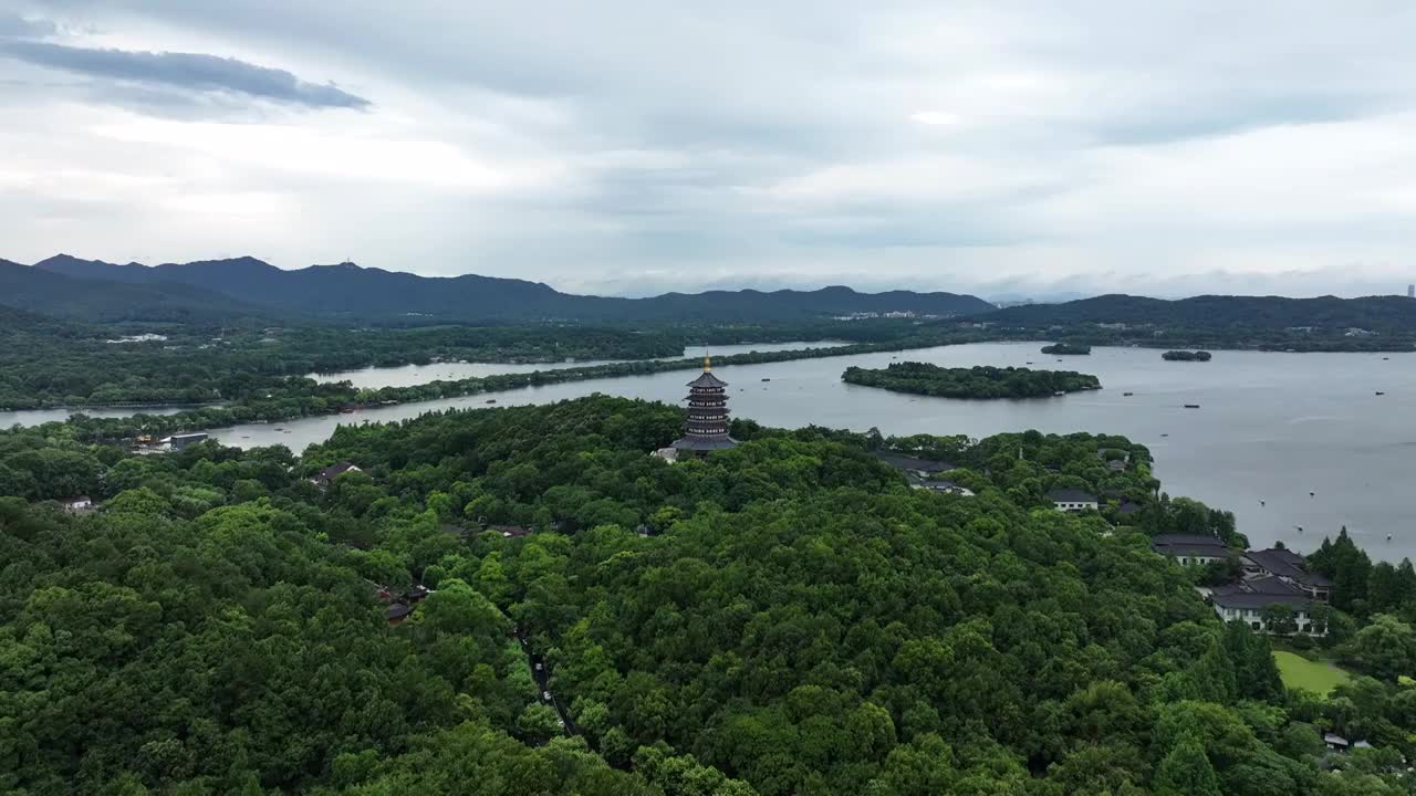
{"label": "dark blue-grey elongated cloud streak at upper left of the sky", "polygon": [[92,78],[195,92],[235,92],[306,108],[362,109],[370,105],[362,96],[334,85],[302,81],[285,69],[200,52],[135,52],[48,41],[0,40],[0,55]]}

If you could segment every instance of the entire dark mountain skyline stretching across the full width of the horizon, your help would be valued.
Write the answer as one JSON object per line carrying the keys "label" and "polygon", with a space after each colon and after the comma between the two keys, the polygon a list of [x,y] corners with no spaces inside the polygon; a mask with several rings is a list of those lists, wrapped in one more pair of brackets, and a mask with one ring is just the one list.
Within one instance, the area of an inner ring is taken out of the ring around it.
{"label": "entire dark mountain skyline stretching across the full width of the horizon", "polygon": [[1416,330],[1416,300],[1403,296],[1287,299],[1107,295],[997,309],[970,295],[850,288],[712,290],[646,299],[578,296],[523,279],[418,276],[354,263],[279,269],[255,258],[147,266],[57,255],[33,266],[0,259],[0,306],[84,322],[207,322],[235,319],[370,323],[466,322],[790,322],[848,313],[912,312],[983,316],[1038,329],[1085,323],[1180,327]]}

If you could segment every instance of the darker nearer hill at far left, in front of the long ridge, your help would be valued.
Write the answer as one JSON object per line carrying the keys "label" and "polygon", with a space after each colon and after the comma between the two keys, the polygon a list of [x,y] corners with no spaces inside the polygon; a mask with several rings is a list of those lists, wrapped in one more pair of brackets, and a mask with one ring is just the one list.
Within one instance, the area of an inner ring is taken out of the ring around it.
{"label": "darker nearer hill at far left, in front of the long ridge", "polygon": [[[126,268],[126,266],[123,266]],[[85,322],[219,322],[268,310],[181,283],[85,279],[0,259],[0,305]]]}

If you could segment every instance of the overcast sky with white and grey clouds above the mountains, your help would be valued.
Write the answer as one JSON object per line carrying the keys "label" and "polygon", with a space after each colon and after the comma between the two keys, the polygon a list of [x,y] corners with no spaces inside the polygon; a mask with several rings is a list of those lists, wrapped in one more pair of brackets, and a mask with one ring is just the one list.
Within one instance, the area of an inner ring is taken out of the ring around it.
{"label": "overcast sky with white and grey clouds above the mountains", "polygon": [[1392,293],[1416,4],[0,0],[0,258]]}

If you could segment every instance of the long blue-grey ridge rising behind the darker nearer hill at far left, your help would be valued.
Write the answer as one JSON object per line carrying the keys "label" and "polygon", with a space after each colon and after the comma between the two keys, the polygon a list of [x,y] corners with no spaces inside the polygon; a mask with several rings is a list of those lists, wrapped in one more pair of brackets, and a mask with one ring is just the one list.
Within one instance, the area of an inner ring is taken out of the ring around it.
{"label": "long blue-grey ridge rising behind the darker nearer hill at far left", "polygon": [[116,265],[58,255],[37,271],[127,285],[176,286],[219,293],[282,313],[392,319],[428,316],[445,320],[797,320],[847,313],[913,312],[976,314],[993,305],[954,293],[857,293],[820,290],[714,290],[615,299],[561,293],[539,282],[491,276],[418,276],[354,263],[282,271],[255,258],[144,266]]}

